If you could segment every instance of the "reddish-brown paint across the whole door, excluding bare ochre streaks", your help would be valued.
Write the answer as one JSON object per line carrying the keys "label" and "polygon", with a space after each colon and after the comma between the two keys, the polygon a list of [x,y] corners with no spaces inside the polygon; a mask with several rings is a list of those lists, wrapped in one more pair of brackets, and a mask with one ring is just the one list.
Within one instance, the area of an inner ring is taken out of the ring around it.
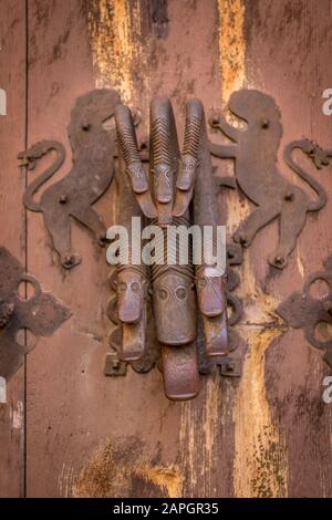
{"label": "reddish-brown paint across the whole door, excluding bare ochre streaks", "polygon": [[[29,1],[28,145],[41,138],[59,139],[66,145],[68,162],[58,178],[70,166],[65,136],[70,110],[77,95],[95,86],[87,31],[90,3]],[[152,95],[169,95],[180,125],[187,96],[198,95],[208,115],[220,106],[221,100],[217,2],[169,1],[169,22],[162,39],[157,37],[158,31],[152,34],[147,4],[147,0],[142,0],[142,34],[137,40],[146,60],[143,64],[139,59],[134,63],[137,89],[133,105],[139,106],[143,121],[148,121]],[[2,2],[0,9],[4,42],[1,81],[7,82],[0,86],[12,93],[6,119],[8,126],[6,132],[0,128],[1,139],[8,143],[6,152],[1,152],[4,155],[0,175],[6,183],[1,193],[1,221],[10,218],[11,226],[1,226],[0,233],[1,242],[23,260],[23,214],[13,208],[18,208],[24,187],[14,158],[24,147],[25,13],[23,2],[13,0]],[[261,89],[276,98],[282,112],[283,144],[303,134],[324,147],[331,146],[331,119],[322,115],[320,98],[322,90],[332,84],[331,1],[246,0],[245,12],[247,86]],[[148,87],[145,77],[149,79]],[[291,176],[286,168],[284,173]],[[313,175],[331,198],[331,175],[326,170]],[[114,200],[111,189],[96,205],[106,225],[113,221]],[[163,396],[157,371],[145,376],[129,372],[125,378],[105,378],[103,365],[110,331],[105,314],[110,299],[105,259],[85,230],[75,227],[73,242],[82,251],[84,262],[63,273],[40,217],[29,215],[28,218],[28,268],[45,288],[61,295],[74,316],[51,339],[41,339],[28,357],[27,495],[74,493],[76,478],[82,485],[80,471],[86,468],[89,476],[96,448],[105,447],[105,451],[111,439],[111,446],[120,446],[115,449],[123,453],[123,457],[116,456],[118,471],[129,475],[122,489],[129,489],[132,496],[157,496],[160,489],[164,496],[175,492],[188,497],[232,496],[234,409],[239,382],[216,376],[212,389],[211,383],[205,379],[198,398],[181,405],[169,403]],[[331,206],[319,218],[308,220],[284,272],[273,275],[266,262],[276,243],[273,225],[255,239],[248,253],[262,291],[278,300],[302,287],[301,271],[304,269],[305,274],[317,271],[321,260],[331,252]],[[313,237],[317,248],[312,247]],[[332,412],[321,401],[326,373],[320,353],[304,342],[301,331],[288,332],[267,351],[267,397],[272,420],[284,436],[290,496],[332,495],[329,439]],[[13,408],[18,401],[24,401],[22,372],[10,383],[9,401]],[[20,486],[24,469],[22,428],[11,428],[9,408],[0,405],[0,496],[19,496],[23,492]],[[133,456],[126,456],[133,438],[139,439],[143,446],[139,468]],[[245,450],[246,446],[237,448]],[[133,475],[142,475],[142,465],[145,478],[138,485],[136,480],[136,486],[128,485]],[[253,493],[271,495],[273,489],[262,482],[267,472],[273,471],[273,465],[272,446],[252,482]],[[160,482],[167,482],[168,477],[173,487],[163,487]],[[114,488],[107,489],[112,492]],[[98,488],[98,495],[103,492],[105,489]]]}

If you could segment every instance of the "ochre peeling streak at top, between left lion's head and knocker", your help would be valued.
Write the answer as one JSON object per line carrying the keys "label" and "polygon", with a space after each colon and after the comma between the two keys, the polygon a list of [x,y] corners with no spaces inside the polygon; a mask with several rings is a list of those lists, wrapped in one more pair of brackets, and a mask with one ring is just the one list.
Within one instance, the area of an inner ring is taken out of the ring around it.
{"label": "ochre peeling streak at top, between left lion's head and knocker", "polygon": [[144,60],[139,0],[90,0],[89,32],[98,87],[132,100],[134,67]]}

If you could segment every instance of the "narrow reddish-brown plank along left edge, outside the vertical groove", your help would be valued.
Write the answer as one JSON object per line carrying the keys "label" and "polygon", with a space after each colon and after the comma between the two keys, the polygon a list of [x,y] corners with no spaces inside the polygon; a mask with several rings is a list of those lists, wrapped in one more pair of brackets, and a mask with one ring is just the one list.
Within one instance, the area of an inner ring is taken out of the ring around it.
{"label": "narrow reddish-brown plank along left edge, outside the vertical groove", "polygon": [[[25,146],[25,6],[20,0],[0,4],[0,87],[7,93],[7,115],[0,116],[0,245],[24,266],[20,200],[25,178],[17,162]],[[24,367],[8,383],[7,403],[0,403],[0,497],[20,497],[24,492]]]}

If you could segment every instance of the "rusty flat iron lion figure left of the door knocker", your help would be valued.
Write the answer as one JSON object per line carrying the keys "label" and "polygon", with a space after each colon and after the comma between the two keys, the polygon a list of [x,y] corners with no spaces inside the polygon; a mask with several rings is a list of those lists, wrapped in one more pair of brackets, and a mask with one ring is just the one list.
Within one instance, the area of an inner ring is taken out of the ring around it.
{"label": "rusty flat iron lion figure left of the door knocker", "polygon": [[115,125],[110,125],[110,119],[118,103],[117,92],[106,89],[77,98],[68,128],[73,167],[63,179],[44,190],[40,201],[34,195],[63,165],[64,146],[56,141],[41,141],[19,154],[22,165],[33,170],[39,159],[55,152],[52,165],[28,186],[23,202],[31,211],[42,211],[65,269],[81,262],[81,257],[72,250],[71,217],[86,226],[100,246],[105,243],[106,227],[92,205],[106,191],[114,176]]}

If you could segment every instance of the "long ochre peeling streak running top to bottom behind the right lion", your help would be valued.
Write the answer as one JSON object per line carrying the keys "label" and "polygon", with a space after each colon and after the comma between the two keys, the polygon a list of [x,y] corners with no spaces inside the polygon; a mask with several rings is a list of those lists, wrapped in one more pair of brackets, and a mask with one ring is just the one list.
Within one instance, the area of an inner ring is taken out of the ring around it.
{"label": "long ochre peeling streak running top to bottom behind the right lion", "polygon": [[[219,52],[222,102],[246,83],[245,4],[241,0],[218,1]],[[234,123],[235,117],[230,116]],[[230,164],[227,165],[230,169]],[[232,233],[250,205],[238,193],[228,193],[227,225]],[[264,294],[256,281],[253,266],[245,251],[241,284],[236,291],[245,302],[245,318],[239,326],[248,352],[243,374],[234,402],[236,497],[282,497],[287,495],[287,454],[273,410],[266,393],[266,351],[283,332],[273,318],[277,301]],[[268,327],[267,327],[268,326]]]}

